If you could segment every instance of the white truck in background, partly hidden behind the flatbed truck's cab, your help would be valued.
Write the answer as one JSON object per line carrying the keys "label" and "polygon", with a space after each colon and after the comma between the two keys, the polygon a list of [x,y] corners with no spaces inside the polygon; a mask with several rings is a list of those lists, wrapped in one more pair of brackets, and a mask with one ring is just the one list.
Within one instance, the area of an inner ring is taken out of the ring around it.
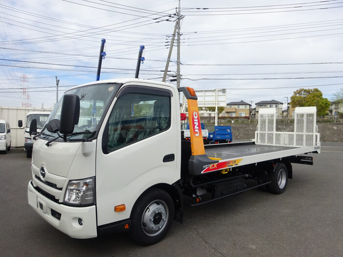
{"label": "white truck in background, partly hidden behind the flatbed truck's cab", "polygon": [[50,113],[47,112],[30,112],[26,116],[26,124],[23,127],[23,121],[18,120],[18,126],[23,129],[24,131],[24,150],[26,152],[26,157],[31,158],[32,156],[32,148],[33,148],[33,142],[31,135],[29,134],[29,128],[31,121],[33,119],[36,119],[37,121],[37,132],[39,133],[41,129],[43,128],[44,124],[46,123],[47,118],[49,117]]}

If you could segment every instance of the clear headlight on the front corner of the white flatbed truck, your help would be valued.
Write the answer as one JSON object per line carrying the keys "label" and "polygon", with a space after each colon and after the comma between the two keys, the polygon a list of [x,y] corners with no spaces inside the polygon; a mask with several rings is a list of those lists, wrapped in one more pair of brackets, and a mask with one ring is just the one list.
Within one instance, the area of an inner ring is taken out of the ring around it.
{"label": "clear headlight on the front corner of the white flatbed truck", "polygon": [[71,205],[94,204],[94,177],[81,180],[70,180],[64,202]]}

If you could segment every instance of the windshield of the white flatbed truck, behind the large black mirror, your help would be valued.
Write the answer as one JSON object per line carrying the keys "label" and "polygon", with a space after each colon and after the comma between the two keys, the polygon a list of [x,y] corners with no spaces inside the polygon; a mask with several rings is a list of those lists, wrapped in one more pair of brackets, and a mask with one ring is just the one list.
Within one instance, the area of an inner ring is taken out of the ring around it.
{"label": "windshield of the white flatbed truck, behind the large black mirror", "polygon": [[[117,84],[106,83],[79,87],[67,91],[66,94],[77,94],[80,98],[79,122],[75,125],[74,131],[68,135],[67,139],[91,138],[97,131],[99,121],[117,89]],[[61,118],[62,100],[63,97],[56,104],[47,122],[51,119]],[[42,133],[44,133],[42,138],[47,136],[58,137],[57,134],[48,132],[46,128],[44,128]]]}

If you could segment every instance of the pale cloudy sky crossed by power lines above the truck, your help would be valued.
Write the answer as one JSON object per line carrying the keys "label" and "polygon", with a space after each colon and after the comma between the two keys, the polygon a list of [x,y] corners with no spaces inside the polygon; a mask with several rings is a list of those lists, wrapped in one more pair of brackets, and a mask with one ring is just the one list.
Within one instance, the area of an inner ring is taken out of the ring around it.
{"label": "pale cloudy sky crossed by power lines above the truck", "polygon": [[[0,106],[53,107],[100,79],[162,80],[178,0],[0,0]],[[286,103],[300,88],[343,88],[343,0],[181,0],[182,87],[227,89],[227,101]],[[176,72],[177,47],[169,64]],[[168,76],[167,82],[172,77]]]}

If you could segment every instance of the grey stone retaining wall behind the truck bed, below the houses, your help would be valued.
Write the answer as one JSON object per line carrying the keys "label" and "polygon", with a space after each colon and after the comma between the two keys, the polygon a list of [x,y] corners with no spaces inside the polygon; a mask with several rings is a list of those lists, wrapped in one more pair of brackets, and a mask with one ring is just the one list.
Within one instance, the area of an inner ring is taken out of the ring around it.
{"label": "grey stone retaining wall behind the truck bed, below the houses", "polygon": [[[228,124],[231,126],[232,138],[235,140],[251,140],[255,138],[256,123]],[[317,123],[320,141],[343,142],[343,123]],[[214,126],[207,126],[213,132]],[[276,123],[276,131],[293,132],[294,123]]]}

